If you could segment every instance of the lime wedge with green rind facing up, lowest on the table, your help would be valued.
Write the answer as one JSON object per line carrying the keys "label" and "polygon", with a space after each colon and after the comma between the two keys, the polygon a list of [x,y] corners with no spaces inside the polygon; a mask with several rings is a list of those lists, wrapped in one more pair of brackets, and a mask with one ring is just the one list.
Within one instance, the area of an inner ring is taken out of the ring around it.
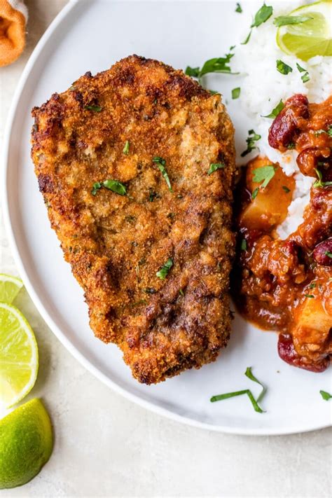
{"label": "lime wedge with green rind facing up, lowest on the table", "polygon": [[0,489],[27,483],[46,464],[53,449],[50,417],[32,399],[0,420]]}

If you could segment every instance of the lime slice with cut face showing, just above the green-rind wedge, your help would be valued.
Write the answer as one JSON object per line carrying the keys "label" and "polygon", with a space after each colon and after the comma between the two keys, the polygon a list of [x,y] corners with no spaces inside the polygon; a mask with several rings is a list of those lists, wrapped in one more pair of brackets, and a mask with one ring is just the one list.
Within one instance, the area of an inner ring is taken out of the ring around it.
{"label": "lime slice with cut face showing, just above the green-rind wedge", "polygon": [[34,386],[38,348],[32,328],[13,305],[0,303],[0,402],[18,403]]}

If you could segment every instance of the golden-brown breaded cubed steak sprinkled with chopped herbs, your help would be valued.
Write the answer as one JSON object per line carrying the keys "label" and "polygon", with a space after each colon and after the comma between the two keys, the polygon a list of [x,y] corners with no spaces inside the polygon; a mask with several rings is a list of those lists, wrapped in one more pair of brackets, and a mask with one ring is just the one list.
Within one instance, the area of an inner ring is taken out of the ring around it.
{"label": "golden-brown breaded cubed steak sprinkled with chopped herbs", "polygon": [[139,382],[230,335],[233,125],[183,71],[132,55],[32,111],[32,159],[97,338]]}

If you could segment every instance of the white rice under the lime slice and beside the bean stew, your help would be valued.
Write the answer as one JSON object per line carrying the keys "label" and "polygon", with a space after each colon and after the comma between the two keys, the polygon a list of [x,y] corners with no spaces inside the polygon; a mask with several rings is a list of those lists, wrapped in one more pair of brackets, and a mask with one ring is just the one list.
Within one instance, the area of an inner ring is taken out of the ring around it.
{"label": "white rice under the lime slice and beside the bean stew", "polygon": [[[323,102],[332,92],[332,57],[317,56],[303,62],[293,55],[283,53],[275,41],[277,28],[273,25],[273,19],[278,15],[287,15],[305,3],[310,2],[268,2],[268,5],[273,6],[271,18],[252,30],[249,43],[238,45],[232,59],[233,71],[245,74],[241,84],[240,102],[252,123],[252,129],[262,137],[256,142],[261,155],[267,155],[272,162],[279,162],[287,176],[295,174],[296,188],[288,216],[277,227],[277,233],[282,239],[288,237],[302,223],[303,210],[310,200],[310,187],[314,179],[305,177],[298,170],[296,151],[280,153],[269,146],[268,129],[272,120],[262,116],[270,114],[281,99],[284,102],[294,93],[307,95],[310,102]],[[261,1],[251,2],[249,4],[251,13],[254,14],[261,5]],[[247,32],[244,32],[243,39],[246,36]],[[289,64],[293,71],[287,75],[280,74],[276,69],[277,59]],[[303,73],[298,71],[296,62],[308,71],[310,81],[307,83],[301,80]],[[254,155],[255,153],[252,153],[248,158]]]}

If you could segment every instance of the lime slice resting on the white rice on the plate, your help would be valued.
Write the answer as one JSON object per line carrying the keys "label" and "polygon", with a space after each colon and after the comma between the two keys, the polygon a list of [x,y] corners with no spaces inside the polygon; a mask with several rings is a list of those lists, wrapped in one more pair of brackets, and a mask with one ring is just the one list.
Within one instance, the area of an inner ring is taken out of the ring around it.
{"label": "lime slice resting on the white rice on the plate", "polygon": [[286,54],[308,60],[315,55],[332,55],[332,1],[317,1],[296,8],[289,15],[305,15],[309,21],[281,26],[277,44]]}

